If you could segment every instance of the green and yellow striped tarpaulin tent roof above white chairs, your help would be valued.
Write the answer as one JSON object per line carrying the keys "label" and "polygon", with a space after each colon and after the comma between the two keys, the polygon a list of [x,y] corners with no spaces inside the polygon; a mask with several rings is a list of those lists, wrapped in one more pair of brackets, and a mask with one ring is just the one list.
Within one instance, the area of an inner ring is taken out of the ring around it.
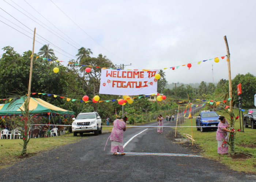
{"label": "green and yellow striped tarpaulin tent roof above white chairs", "polygon": [[[0,105],[0,115],[22,114],[20,109],[24,111],[24,103],[25,103],[25,99],[23,97],[23,98],[14,100],[14,102],[11,104],[10,107],[8,107],[10,103]],[[63,108],[60,108],[48,102],[45,102],[42,99],[33,98],[33,97],[30,97],[29,111],[31,114],[45,113],[45,112],[52,112],[56,114],[75,114],[75,112],[73,111],[65,110]]]}

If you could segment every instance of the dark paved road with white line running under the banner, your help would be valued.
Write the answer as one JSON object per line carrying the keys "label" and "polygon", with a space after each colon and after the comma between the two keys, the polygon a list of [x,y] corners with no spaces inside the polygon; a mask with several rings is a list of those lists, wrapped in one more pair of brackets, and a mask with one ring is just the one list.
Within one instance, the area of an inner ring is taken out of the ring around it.
{"label": "dark paved road with white line running under the banner", "polygon": [[[164,126],[171,125],[174,123],[164,122]],[[110,142],[103,151],[110,133],[84,138],[0,170],[0,181],[256,181],[255,175],[195,157],[200,154],[173,143],[171,130],[165,127],[158,134],[155,127],[128,128],[124,143],[143,132],[125,146],[124,156],[112,155]]]}

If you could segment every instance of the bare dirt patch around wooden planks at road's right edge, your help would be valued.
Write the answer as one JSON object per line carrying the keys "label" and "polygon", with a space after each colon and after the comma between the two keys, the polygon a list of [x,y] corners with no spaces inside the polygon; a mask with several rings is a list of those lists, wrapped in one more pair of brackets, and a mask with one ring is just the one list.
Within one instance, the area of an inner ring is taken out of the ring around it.
{"label": "bare dirt patch around wooden planks at road's right edge", "polygon": [[180,135],[179,133],[176,133],[176,137],[173,137],[173,136],[175,136],[175,130],[171,130],[169,132],[169,134],[167,135],[167,138],[170,141],[175,142],[179,145],[182,145],[182,146],[186,147],[187,149],[190,149],[194,152],[202,153],[204,151],[197,143],[193,143],[193,145],[192,145],[192,142],[177,142],[175,140],[176,138],[186,138],[187,139],[187,137],[184,137],[184,136]]}

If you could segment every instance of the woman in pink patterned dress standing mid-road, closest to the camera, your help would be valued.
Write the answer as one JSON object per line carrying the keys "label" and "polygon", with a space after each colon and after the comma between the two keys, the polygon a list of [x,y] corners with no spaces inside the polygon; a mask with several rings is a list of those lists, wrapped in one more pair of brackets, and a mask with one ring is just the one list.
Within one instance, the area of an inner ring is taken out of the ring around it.
{"label": "woman in pink patterned dress standing mid-road, closest to the camera", "polygon": [[127,117],[124,116],[123,119],[116,119],[113,122],[113,129],[110,135],[111,152],[117,155],[117,152],[121,152],[121,155],[125,155],[123,147],[123,132],[126,130]]}

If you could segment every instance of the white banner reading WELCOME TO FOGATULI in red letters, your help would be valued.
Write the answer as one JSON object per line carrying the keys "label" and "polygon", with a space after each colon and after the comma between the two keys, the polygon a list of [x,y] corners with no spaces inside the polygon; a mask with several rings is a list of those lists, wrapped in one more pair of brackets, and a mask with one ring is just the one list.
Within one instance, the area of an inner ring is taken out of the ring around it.
{"label": "white banner reading WELCOME TO FOGATULI in red letters", "polygon": [[101,69],[99,94],[141,95],[157,92],[158,70]]}

